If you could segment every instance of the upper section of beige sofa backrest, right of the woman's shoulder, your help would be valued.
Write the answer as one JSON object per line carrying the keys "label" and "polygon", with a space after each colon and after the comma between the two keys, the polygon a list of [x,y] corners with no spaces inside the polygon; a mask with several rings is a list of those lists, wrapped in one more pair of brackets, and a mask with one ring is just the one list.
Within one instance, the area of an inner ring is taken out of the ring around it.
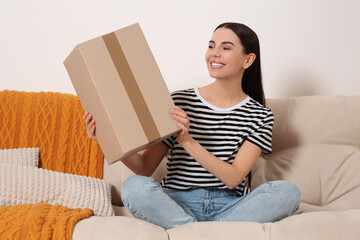
{"label": "upper section of beige sofa backrest, right of the woman's shoulder", "polygon": [[309,144],[359,144],[359,96],[269,100],[275,115],[273,152]]}

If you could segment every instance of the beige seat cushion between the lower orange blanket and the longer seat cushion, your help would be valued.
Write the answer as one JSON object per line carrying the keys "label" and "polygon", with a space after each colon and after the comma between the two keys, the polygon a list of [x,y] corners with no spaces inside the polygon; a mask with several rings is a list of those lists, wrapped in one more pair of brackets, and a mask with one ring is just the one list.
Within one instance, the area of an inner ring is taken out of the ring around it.
{"label": "beige seat cushion between the lower orange blanket and the longer seat cushion", "polygon": [[168,240],[168,235],[163,228],[135,218],[93,216],[74,226],[72,239]]}

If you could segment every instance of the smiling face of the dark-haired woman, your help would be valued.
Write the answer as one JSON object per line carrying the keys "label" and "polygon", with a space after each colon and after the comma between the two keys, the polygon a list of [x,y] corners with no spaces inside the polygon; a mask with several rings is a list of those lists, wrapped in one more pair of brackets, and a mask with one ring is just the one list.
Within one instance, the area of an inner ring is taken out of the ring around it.
{"label": "smiling face of the dark-haired woman", "polygon": [[209,41],[205,59],[211,77],[241,79],[248,67],[249,55],[244,53],[240,39],[232,30],[219,28]]}

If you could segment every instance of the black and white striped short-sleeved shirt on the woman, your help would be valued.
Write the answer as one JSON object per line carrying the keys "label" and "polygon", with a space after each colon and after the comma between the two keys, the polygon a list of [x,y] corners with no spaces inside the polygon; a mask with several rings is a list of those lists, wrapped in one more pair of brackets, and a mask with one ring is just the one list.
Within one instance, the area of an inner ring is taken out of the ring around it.
{"label": "black and white striped short-sleeved shirt on the woman", "polygon": [[[233,107],[221,109],[206,102],[197,88],[176,91],[171,96],[175,105],[190,118],[189,134],[221,160],[232,163],[244,140],[259,146],[262,153],[271,152],[274,116],[269,108],[251,97]],[[227,188],[177,143],[176,136],[164,143],[171,149],[168,174],[162,181],[165,189]],[[241,195],[250,192],[245,183],[246,178],[236,188]]]}

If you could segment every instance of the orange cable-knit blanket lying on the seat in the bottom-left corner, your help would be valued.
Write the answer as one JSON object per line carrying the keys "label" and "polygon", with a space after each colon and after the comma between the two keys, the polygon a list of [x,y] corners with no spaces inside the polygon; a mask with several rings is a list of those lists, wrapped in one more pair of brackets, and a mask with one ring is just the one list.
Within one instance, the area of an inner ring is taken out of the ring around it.
{"label": "orange cable-knit blanket lying on the seat in the bottom-left corner", "polygon": [[0,207],[0,239],[71,239],[75,223],[91,215],[48,203]]}

